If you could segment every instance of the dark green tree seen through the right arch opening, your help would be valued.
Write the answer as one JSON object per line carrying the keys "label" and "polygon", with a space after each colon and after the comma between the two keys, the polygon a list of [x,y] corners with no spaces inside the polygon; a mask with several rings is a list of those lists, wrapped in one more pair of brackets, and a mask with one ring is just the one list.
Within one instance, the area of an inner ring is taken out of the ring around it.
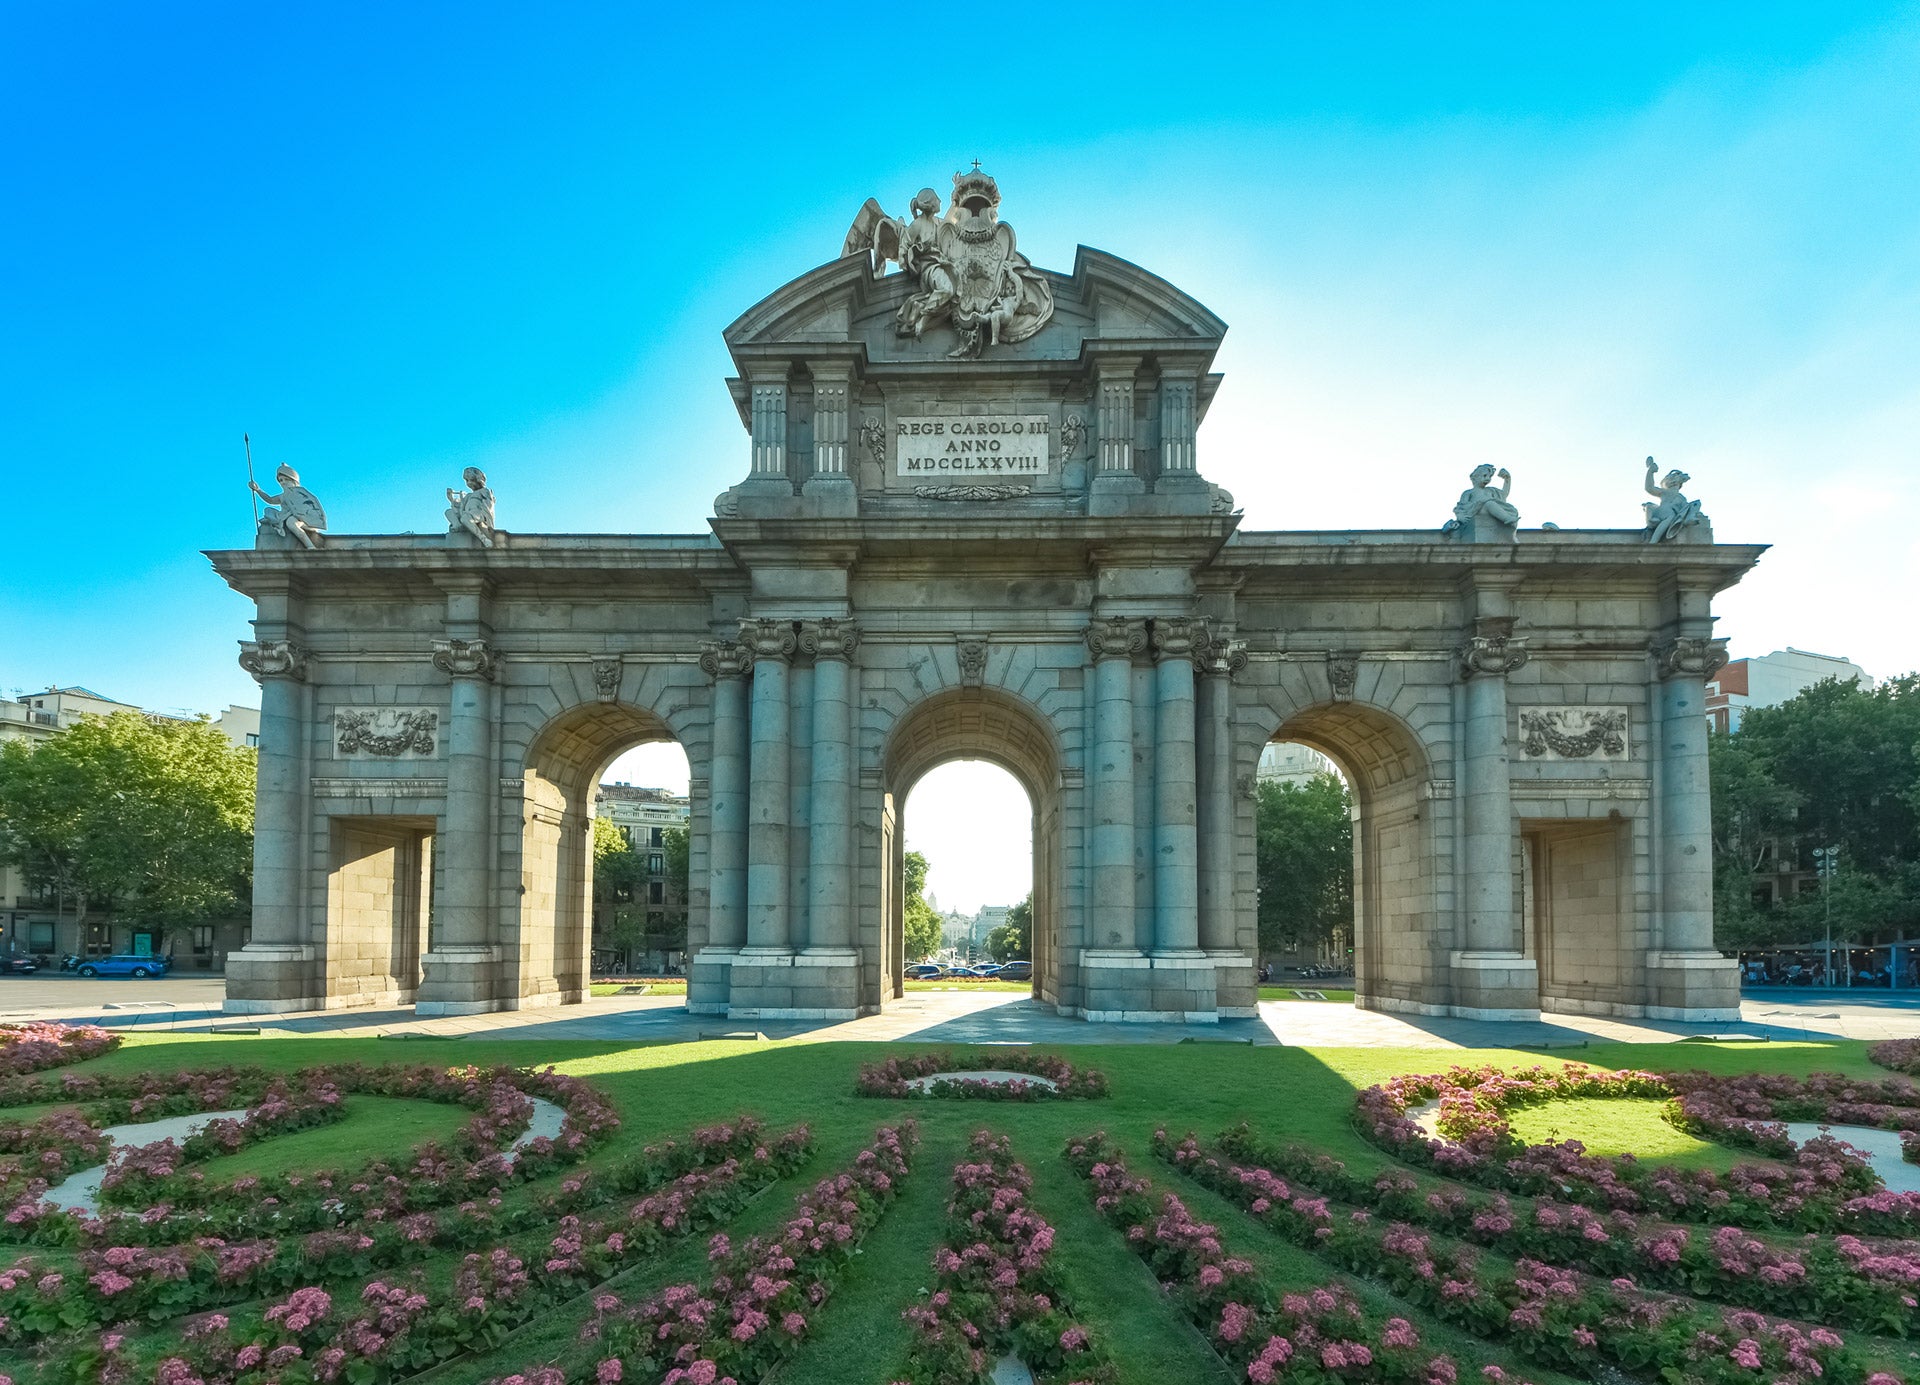
{"label": "dark green tree seen through the right arch opening", "polygon": [[1336,774],[1258,790],[1260,947],[1354,935],[1354,799]]}

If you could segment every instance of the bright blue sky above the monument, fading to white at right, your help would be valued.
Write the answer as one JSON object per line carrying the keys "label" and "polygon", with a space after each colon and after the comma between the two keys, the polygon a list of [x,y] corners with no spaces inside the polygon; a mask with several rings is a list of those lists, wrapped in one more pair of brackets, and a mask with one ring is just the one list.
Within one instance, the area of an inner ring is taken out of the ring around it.
{"label": "bright blue sky above the monument, fading to white at right", "polygon": [[0,10],[0,692],[250,701],[240,434],[342,530],[703,528],[720,328],[979,158],[1231,323],[1250,526],[1778,547],[1736,651],[1920,665],[1912,6]]}

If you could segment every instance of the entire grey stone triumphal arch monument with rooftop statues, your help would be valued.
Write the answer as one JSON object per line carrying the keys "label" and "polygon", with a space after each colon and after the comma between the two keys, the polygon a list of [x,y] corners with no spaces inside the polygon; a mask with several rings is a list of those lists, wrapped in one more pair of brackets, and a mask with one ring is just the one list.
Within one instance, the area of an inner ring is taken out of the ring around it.
{"label": "entire grey stone triumphal arch monument with rooftop statues", "polygon": [[1098,250],[1035,269],[970,173],[726,328],[707,534],[497,530],[474,469],[444,534],[334,532],[284,471],[211,553],[261,682],[228,1008],[584,999],[593,784],[674,740],[697,1012],[899,995],[906,793],[979,757],[1033,803],[1043,1003],[1248,1014],[1283,738],[1356,791],[1361,1005],[1730,1014],[1701,682],[1761,549],[1651,463],[1645,530],[1521,528],[1492,469],[1432,530],[1244,530],[1196,455],[1223,332]]}

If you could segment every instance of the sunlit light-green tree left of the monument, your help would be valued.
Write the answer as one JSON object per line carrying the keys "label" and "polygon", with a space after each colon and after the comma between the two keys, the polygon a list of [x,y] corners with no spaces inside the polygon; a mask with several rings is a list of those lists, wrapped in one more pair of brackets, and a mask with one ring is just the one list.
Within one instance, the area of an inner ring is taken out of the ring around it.
{"label": "sunlit light-green tree left of the monument", "polygon": [[0,745],[0,853],[71,901],[156,930],[232,911],[250,893],[255,753],[213,722],[86,717]]}

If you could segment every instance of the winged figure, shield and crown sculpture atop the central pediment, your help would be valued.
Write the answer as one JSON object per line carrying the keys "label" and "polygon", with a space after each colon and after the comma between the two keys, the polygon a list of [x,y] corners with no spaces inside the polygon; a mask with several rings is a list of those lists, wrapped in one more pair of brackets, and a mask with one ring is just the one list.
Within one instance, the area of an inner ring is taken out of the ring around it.
{"label": "winged figure, shield and crown sculpture atop the central pediment", "polygon": [[1014,229],[1000,221],[1000,188],[979,171],[954,173],[952,206],[941,215],[941,194],[922,188],[910,219],[889,217],[868,198],[847,232],[841,255],[872,255],[874,273],[887,261],[910,275],[918,292],[895,315],[900,336],[920,338],[950,323],[960,344],[948,359],[973,359],[989,346],[1012,346],[1046,327],[1054,290],[1046,275],[1016,250]]}

